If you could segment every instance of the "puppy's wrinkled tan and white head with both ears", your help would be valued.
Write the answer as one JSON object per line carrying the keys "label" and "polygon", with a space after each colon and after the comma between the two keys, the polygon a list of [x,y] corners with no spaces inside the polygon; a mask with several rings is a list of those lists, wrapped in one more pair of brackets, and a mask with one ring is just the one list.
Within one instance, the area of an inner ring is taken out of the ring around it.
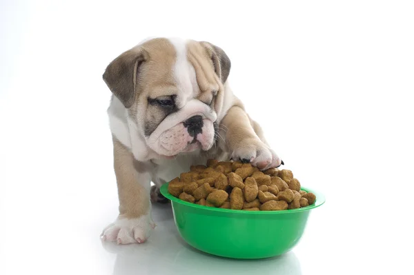
{"label": "puppy's wrinkled tan and white head with both ears", "polygon": [[161,156],[175,156],[215,143],[229,72],[230,59],[213,44],[158,38],[117,57],[103,80],[146,145]]}

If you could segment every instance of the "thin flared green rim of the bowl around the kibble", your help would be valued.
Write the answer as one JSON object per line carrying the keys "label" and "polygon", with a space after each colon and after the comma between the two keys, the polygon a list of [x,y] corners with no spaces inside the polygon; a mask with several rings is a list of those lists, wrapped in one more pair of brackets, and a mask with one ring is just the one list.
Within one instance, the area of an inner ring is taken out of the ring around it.
{"label": "thin flared green rim of the bowl around the kibble", "polygon": [[250,215],[264,215],[264,214],[289,214],[289,213],[297,213],[297,212],[304,212],[304,211],[309,211],[309,210],[313,210],[316,207],[319,207],[321,205],[323,205],[325,203],[325,196],[320,193],[317,192],[313,189],[310,188],[306,188],[306,187],[301,187],[301,190],[304,190],[306,192],[311,192],[313,194],[315,194],[316,196],[316,201],[315,203],[313,203],[313,205],[309,205],[306,207],[300,207],[297,209],[289,209],[289,210],[278,210],[278,211],[272,211],[272,210],[268,210],[268,211],[246,211],[246,210],[233,210],[233,209],[226,209],[226,208],[219,208],[219,207],[209,207],[209,206],[205,206],[205,205],[198,205],[195,203],[188,203],[188,201],[182,201],[181,199],[172,196],[172,194],[168,193],[168,184],[169,183],[164,183],[164,185],[161,186],[161,188],[159,188],[159,191],[161,192],[161,194],[163,196],[165,196],[166,198],[168,198],[170,201],[174,202],[174,203],[179,203],[182,205],[188,205],[190,207],[194,207],[194,208],[198,208],[200,210],[210,210],[210,211],[215,211],[215,212],[224,212],[224,213],[233,213],[233,214],[250,214]]}

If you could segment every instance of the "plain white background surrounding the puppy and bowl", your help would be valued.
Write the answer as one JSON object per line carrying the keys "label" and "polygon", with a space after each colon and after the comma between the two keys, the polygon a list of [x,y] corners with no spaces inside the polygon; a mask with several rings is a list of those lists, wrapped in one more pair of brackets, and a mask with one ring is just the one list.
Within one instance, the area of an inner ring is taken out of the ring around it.
{"label": "plain white background surrounding the puppy and bowl", "polygon": [[[1,1],[0,274],[413,272],[411,1],[111,2]],[[117,214],[101,75],[150,36],[223,48],[285,167],[326,195],[292,252],[199,254],[169,206],[148,243],[101,245]]]}

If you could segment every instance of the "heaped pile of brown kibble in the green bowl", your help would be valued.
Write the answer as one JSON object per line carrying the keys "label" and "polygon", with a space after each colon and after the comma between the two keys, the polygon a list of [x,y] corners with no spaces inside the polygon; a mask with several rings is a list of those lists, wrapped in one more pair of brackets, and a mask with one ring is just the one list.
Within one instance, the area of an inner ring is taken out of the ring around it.
{"label": "heaped pile of brown kibble in the green bowl", "polygon": [[168,192],[190,203],[247,211],[296,209],[316,200],[300,189],[290,170],[262,172],[250,163],[214,159],[181,173],[170,181]]}

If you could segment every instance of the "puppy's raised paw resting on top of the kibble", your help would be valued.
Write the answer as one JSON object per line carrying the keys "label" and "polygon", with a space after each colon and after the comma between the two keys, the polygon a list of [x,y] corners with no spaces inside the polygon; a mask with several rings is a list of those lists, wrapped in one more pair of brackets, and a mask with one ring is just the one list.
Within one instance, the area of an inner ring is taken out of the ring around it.
{"label": "puppy's raised paw resting on top of the kibble", "polygon": [[243,161],[257,166],[260,170],[279,167],[284,164],[266,144],[258,139],[244,139],[232,154],[234,161]]}

